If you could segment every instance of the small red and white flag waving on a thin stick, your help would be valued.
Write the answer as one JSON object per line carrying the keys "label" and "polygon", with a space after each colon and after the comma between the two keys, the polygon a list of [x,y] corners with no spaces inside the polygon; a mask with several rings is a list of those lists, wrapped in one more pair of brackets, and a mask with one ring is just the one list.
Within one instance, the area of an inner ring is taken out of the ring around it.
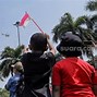
{"label": "small red and white flag waving on a thin stick", "polygon": [[31,16],[28,13],[25,13],[20,22],[20,26],[26,26],[31,22]]}

